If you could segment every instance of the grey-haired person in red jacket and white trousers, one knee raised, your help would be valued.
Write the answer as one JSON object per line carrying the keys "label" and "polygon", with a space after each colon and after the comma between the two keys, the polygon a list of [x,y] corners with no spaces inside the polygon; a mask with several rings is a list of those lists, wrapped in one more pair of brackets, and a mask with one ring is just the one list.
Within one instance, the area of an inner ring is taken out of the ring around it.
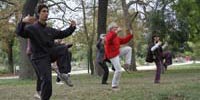
{"label": "grey-haired person in red jacket and white trousers, one knee raised", "polygon": [[120,64],[120,57],[125,56],[125,70],[127,70],[131,64],[132,48],[129,46],[120,47],[120,45],[128,43],[133,38],[133,35],[129,31],[126,37],[119,37],[117,35],[119,31],[121,31],[121,28],[115,22],[110,23],[104,41],[105,57],[111,61],[115,68],[112,79],[113,89],[118,88],[121,77],[122,67]]}

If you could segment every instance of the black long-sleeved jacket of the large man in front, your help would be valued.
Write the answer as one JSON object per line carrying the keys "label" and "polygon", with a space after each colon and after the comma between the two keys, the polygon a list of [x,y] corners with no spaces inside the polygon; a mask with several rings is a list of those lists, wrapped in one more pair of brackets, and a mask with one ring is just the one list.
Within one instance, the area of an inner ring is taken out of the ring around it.
{"label": "black long-sleeved jacket of the large man in front", "polygon": [[32,58],[38,58],[49,55],[51,48],[55,46],[54,39],[62,39],[71,35],[76,27],[70,26],[64,31],[60,31],[46,25],[36,22],[32,25],[26,25],[23,22],[18,24],[16,33],[23,38],[29,38],[31,41]]}

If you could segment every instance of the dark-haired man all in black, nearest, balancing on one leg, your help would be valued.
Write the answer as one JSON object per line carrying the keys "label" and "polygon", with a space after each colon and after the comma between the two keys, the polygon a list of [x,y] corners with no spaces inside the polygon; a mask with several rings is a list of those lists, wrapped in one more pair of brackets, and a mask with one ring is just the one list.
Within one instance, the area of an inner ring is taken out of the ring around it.
{"label": "dark-haired man all in black, nearest, balancing on one leg", "polygon": [[67,84],[69,75],[67,74],[66,47],[56,46],[55,39],[62,39],[70,36],[76,29],[75,21],[71,21],[70,27],[61,31],[46,25],[48,19],[48,6],[41,4],[37,8],[39,19],[36,23],[29,23],[29,17],[23,18],[18,24],[16,33],[23,38],[29,38],[31,42],[31,62],[37,70],[41,79],[41,99],[49,100],[52,95],[51,62],[53,58],[58,58],[58,69],[60,76]]}

